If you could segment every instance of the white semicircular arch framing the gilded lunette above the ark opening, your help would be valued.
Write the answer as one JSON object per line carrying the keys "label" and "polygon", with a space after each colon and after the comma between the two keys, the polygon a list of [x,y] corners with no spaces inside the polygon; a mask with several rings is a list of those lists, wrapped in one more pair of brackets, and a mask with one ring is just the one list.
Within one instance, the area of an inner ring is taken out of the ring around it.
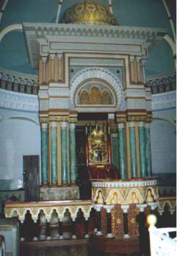
{"label": "white semicircular arch framing the gilded lunette above the ark opening", "polygon": [[[72,79],[71,79],[71,104],[72,107],[78,107],[78,93],[82,86],[87,85],[87,82],[93,81],[94,82],[102,82],[103,86],[105,86],[105,90],[107,87],[107,92],[112,97],[112,103],[109,104],[110,107],[118,108],[122,107],[123,104],[123,85],[120,83],[119,79],[115,77],[109,70],[106,68],[84,68],[82,71],[79,71]],[[104,91],[100,88],[100,92]],[[101,104],[95,104],[95,106]],[[107,107],[109,107],[107,106]],[[80,106],[81,107],[81,106]],[[89,107],[89,106],[88,106]],[[94,107],[93,105],[90,109]],[[106,104],[105,104],[106,107]],[[106,108],[105,108],[106,110]]]}

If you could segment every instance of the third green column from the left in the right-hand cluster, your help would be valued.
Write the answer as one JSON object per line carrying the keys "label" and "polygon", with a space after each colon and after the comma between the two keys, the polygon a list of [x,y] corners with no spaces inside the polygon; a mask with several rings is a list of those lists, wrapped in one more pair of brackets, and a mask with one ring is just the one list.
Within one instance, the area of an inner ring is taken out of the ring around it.
{"label": "third green column from the left in the right-hand cluster", "polygon": [[140,176],[146,177],[145,161],[145,127],[144,122],[139,122],[139,147],[140,147]]}

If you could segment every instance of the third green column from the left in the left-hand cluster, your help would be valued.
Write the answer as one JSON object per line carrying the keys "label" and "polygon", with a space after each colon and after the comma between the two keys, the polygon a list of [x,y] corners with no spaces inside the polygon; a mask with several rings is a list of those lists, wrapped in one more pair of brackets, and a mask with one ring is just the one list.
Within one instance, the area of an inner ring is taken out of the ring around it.
{"label": "third green column from the left in the left-hand cluster", "polygon": [[68,128],[68,122],[62,121],[62,124],[61,124],[62,185],[66,185],[68,183],[67,128]]}

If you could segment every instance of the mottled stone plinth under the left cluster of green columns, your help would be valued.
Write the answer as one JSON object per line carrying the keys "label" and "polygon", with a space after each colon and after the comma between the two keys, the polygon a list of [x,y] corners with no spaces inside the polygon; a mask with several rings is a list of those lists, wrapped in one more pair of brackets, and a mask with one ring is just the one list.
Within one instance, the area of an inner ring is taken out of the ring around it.
{"label": "mottled stone plinth under the left cluster of green columns", "polygon": [[40,188],[40,201],[79,200],[79,187]]}

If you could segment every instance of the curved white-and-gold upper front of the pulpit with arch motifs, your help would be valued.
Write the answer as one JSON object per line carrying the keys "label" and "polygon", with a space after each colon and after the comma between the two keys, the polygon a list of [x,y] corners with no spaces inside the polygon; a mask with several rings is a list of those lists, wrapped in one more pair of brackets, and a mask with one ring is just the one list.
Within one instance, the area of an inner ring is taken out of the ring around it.
{"label": "curved white-and-gold upper front of the pulpit with arch motifs", "polygon": [[[132,179],[131,179],[132,180]],[[156,202],[159,191],[156,179],[138,180],[136,182],[92,182],[92,199],[105,205],[134,205]],[[100,196],[98,196],[100,193]],[[101,195],[104,202],[101,202]]]}

